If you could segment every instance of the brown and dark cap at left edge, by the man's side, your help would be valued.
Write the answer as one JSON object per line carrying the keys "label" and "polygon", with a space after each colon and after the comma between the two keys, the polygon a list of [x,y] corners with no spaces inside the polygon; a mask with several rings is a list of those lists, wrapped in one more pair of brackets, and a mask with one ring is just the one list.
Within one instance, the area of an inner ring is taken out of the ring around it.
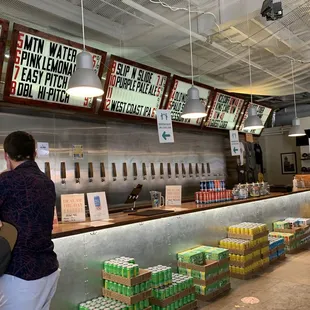
{"label": "brown and dark cap at left edge, by the man's side", "polygon": [[11,252],[13,251],[16,240],[16,228],[9,223],[0,222],[0,276],[5,273],[10,263]]}

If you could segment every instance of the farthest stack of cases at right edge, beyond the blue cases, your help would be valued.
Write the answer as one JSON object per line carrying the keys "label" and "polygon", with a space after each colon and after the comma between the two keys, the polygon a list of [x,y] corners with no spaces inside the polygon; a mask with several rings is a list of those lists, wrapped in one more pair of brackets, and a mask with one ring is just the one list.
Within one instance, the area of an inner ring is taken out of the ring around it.
{"label": "farthest stack of cases at right edge, beyond the blue cases", "polygon": [[284,239],[286,253],[293,254],[310,243],[310,219],[287,218],[273,223],[269,235]]}

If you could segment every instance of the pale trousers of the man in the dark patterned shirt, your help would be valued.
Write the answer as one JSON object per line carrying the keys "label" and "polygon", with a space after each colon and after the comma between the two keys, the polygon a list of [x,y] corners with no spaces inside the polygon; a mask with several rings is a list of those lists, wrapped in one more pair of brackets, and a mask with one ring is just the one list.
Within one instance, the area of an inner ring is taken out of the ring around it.
{"label": "pale trousers of the man in the dark patterned shirt", "polygon": [[0,277],[1,310],[49,310],[60,270],[34,281],[10,275]]}

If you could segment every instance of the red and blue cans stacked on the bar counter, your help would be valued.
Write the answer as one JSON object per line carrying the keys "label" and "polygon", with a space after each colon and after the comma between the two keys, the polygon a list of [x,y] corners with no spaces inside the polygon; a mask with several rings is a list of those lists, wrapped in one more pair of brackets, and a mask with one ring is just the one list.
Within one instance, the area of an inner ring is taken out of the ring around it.
{"label": "red and blue cans stacked on the bar counter", "polygon": [[195,193],[196,204],[209,204],[232,200],[232,191],[225,188],[224,180],[200,182],[200,192]]}

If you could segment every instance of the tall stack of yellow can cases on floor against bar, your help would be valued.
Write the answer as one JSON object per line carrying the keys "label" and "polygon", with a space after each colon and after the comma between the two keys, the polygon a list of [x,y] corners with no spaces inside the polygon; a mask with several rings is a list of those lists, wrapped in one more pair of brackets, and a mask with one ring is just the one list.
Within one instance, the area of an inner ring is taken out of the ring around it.
{"label": "tall stack of yellow can cases on floor against bar", "polygon": [[269,266],[268,230],[265,224],[241,223],[228,228],[220,247],[229,250],[230,275],[248,279]]}

